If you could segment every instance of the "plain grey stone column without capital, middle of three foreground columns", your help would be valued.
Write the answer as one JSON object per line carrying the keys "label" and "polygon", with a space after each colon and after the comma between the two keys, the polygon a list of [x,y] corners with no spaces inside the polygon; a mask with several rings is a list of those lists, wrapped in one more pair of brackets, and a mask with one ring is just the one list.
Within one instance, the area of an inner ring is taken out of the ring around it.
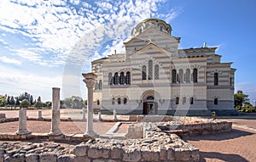
{"label": "plain grey stone column without capital, middle of three foreground columns", "polygon": [[51,129],[49,135],[60,136],[62,135],[60,129],[60,88],[52,88],[52,108],[51,108]]}

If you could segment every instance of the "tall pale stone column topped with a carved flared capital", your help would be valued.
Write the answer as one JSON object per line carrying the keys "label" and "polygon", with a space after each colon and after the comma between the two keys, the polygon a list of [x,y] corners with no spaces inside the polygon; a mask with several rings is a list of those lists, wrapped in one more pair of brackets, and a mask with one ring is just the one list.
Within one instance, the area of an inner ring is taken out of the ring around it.
{"label": "tall pale stone column topped with a carved flared capital", "polygon": [[88,88],[88,96],[87,96],[87,122],[86,122],[86,131],[85,135],[96,136],[96,133],[93,131],[93,109],[92,109],[92,101],[93,101],[93,87],[95,86],[97,75],[94,73],[82,74],[84,76],[84,82],[86,87]]}

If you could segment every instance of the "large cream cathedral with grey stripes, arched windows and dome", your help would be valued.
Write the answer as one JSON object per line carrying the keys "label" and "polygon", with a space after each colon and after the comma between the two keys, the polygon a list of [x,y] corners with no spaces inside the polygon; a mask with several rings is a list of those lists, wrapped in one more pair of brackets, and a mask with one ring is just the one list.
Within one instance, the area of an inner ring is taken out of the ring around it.
{"label": "large cream cathedral with grey stripes, arched windows and dome", "polygon": [[232,63],[217,47],[180,49],[164,20],[147,19],[131,31],[125,53],[92,61],[98,75],[93,108],[118,114],[210,115],[233,112]]}

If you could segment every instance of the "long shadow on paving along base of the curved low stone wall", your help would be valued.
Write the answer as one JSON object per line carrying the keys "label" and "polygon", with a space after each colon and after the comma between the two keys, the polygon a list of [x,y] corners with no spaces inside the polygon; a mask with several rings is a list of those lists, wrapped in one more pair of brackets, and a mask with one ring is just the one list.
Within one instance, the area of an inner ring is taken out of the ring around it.
{"label": "long shadow on paving along base of the curved low stone wall", "polygon": [[248,131],[241,131],[237,129],[232,129],[232,131],[228,132],[219,132],[209,135],[201,135],[196,137],[184,137],[183,140],[187,141],[201,141],[201,140],[207,140],[207,141],[222,141],[222,140],[228,140],[228,139],[234,139],[237,137],[246,137],[251,136],[254,133],[248,132]]}

